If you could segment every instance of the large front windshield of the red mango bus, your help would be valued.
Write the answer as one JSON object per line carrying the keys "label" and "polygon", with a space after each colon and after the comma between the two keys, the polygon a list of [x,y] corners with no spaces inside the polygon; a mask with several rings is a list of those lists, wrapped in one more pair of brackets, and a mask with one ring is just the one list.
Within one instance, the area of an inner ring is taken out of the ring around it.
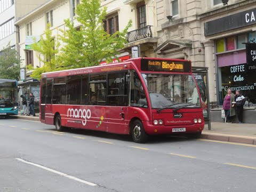
{"label": "large front windshield of the red mango bus", "polygon": [[142,74],[153,109],[201,107],[193,76],[180,74]]}

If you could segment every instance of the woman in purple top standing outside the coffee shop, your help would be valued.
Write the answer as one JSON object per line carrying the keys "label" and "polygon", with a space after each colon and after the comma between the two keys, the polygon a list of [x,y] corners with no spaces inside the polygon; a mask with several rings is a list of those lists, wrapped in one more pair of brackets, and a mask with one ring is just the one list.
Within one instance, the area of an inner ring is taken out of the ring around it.
{"label": "woman in purple top standing outside the coffee shop", "polygon": [[226,94],[223,102],[223,109],[225,110],[225,123],[231,123],[230,117],[236,115],[235,104],[235,94],[228,89],[228,94]]}

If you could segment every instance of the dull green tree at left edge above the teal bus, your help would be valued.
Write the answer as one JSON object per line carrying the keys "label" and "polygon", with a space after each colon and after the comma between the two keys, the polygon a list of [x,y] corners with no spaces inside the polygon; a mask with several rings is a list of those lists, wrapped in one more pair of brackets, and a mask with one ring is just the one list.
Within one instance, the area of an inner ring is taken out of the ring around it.
{"label": "dull green tree at left edge above the teal bus", "polygon": [[0,54],[0,78],[20,78],[20,60],[17,51],[10,46],[10,43],[3,48]]}

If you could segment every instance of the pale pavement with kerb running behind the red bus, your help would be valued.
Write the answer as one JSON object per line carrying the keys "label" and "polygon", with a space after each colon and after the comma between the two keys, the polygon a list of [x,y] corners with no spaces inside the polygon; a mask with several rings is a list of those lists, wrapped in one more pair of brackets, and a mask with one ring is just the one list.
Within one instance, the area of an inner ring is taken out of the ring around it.
{"label": "pale pavement with kerb running behind the red bus", "polygon": [[[39,113],[37,113],[35,117],[21,114],[15,117],[19,119],[26,119],[29,121],[39,121]],[[256,124],[227,124],[220,122],[211,122],[211,130],[209,130],[208,125],[205,124],[201,139],[256,145]]]}

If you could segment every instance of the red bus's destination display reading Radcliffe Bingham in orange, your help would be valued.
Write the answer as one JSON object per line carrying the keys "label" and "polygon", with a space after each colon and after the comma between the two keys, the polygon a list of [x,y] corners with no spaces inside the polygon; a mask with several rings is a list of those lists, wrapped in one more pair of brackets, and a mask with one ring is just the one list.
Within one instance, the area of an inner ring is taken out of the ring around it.
{"label": "red bus's destination display reading Radcliffe Bingham in orange", "polygon": [[168,61],[141,59],[141,70],[190,73],[189,61]]}

